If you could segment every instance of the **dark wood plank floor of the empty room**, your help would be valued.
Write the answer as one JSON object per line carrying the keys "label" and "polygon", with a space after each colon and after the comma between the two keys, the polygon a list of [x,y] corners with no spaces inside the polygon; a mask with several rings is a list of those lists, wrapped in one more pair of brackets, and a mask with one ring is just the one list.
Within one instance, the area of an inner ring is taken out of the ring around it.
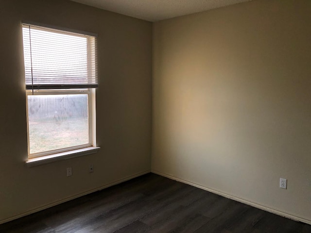
{"label": "dark wood plank floor of the empty room", "polygon": [[311,225],[149,173],[2,224],[0,233],[311,233]]}

